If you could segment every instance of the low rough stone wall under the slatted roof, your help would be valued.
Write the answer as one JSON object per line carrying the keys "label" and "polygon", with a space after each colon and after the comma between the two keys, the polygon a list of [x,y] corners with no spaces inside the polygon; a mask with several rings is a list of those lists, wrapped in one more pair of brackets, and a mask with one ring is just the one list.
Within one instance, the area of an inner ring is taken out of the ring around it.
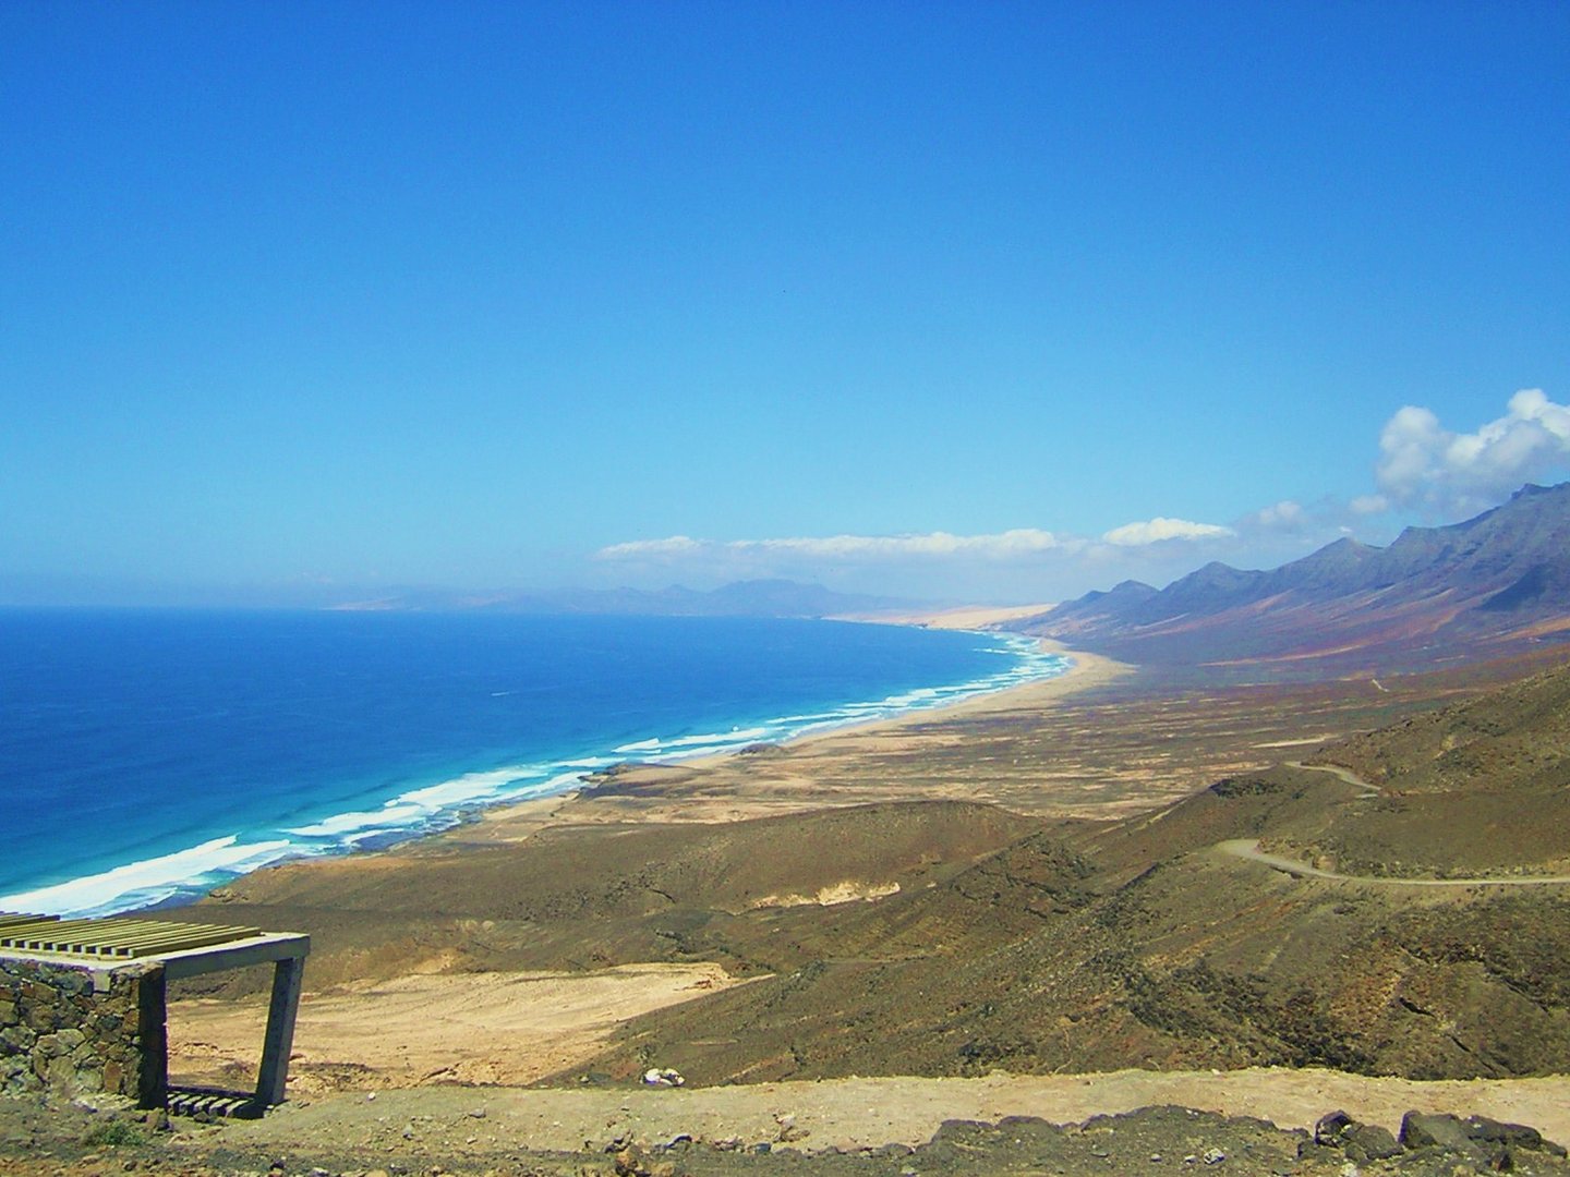
{"label": "low rough stone wall under the slatted roof", "polygon": [[0,959],[0,1095],[168,1094],[160,965],[111,971]]}

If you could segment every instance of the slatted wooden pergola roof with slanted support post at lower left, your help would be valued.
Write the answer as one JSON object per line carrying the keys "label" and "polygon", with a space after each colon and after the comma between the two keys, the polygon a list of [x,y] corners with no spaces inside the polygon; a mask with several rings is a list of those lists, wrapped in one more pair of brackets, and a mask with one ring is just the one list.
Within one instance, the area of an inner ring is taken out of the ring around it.
{"label": "slatted wooden pergola roof with slanted support post at lower left", "polygon": [[[60,920],[0,912],[0,960],[86,968],[93,976],[93,992],[107,992],[115,971],[129,965],[155,965],[163,982],[168,982],[272,964],[272,1000],[253,1100],[259,1108],[284,1102],[289,1051],[300,1011],[300,982],[309,951],[311,937],[298,932],[262,932],[256,927],[140,916]],[[166,1050],[162,1040],[157,1048]],[[166,1073],[166,1058],[157,1062]]]}

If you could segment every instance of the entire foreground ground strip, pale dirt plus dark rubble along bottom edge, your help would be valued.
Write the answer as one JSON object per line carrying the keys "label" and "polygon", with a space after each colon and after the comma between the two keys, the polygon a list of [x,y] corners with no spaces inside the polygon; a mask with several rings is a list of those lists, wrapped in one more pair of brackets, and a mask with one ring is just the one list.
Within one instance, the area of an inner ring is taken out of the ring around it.
{"label": "entire foreground ground strip, pale dirt plus dark rubble along bottom edge", "polygon": [[1391,1133],[1407,1110],[1465,1110],[1564,1139],[1567,1095],[1570,1081],[1562,1078],[1408,1083],[1269,1070],[831,1080],[700,1091],[429,1086],[297,1100],[262,1121],[223,1124],[0,1100],[0,1171],[9,1177],[1565,1174],[1562,1155],[1531,1131],[1506,1133],[1524,1144],[1396,1147],[1386,1160],[1316,1144],[1313,1133],[1334,1110]]}

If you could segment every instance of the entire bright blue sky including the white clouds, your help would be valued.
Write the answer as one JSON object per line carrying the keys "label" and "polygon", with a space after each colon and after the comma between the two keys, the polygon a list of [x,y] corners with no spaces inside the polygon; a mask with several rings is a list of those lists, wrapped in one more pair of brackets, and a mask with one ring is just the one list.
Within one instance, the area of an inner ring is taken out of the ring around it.
{"label": "entire bright blue sky including the white clouds", "polygon": [[1562,3],[0,6],[0,603],[1046,601],[1570,474]]}

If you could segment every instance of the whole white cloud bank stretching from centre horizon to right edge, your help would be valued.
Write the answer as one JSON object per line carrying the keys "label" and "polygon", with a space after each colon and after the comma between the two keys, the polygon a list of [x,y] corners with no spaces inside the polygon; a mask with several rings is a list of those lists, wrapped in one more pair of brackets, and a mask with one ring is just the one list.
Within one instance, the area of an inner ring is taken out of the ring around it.
{"label": "whole white cloud bank stretching from centre horizon to right edge", "polygon": [[[970,593],[991,584],[997,593],[1036,596],[1082,592],[1129,576],[1149,581],[1182,574],[1204,560],[1258,562],[1303,554],[1342,535],[1356,535],[1391,512],[1455,521],[1502,501],[1526,482],[1570,468],[1570,406],[1542,389],[1510,397],[1504,416],[1471,433],[1444,428],[1438,416],[1407,405],[1378,436],[1375,491],[1313,505],[1281,501],[1229,524],[1157,515],[1099,537],[1041,527],[955,535],[827,535],[708,540],[689,535],[631,540],[595,552],[619,571],[714,581],[791,576],[867,585],[892,574],[923,592]],[[1077,587],[1075,587],[1077,585]]]}

